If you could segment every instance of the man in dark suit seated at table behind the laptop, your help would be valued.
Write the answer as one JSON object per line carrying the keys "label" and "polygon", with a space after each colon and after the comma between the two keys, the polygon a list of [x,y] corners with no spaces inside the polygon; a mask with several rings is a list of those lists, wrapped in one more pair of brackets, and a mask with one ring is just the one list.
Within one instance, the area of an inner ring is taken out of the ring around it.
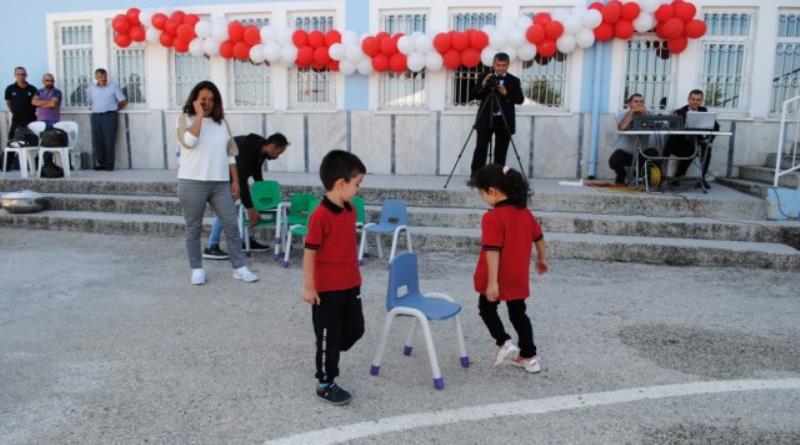
{"label": "man in dark suit seated at table behind the laptop", "polygon": [[[686,123],[686,113],[689,111],[702,111],[707,112],[708,109],[703,106],[703,92],[700,90],[692,90],[689,92],[689,99],[688,104],[678,108],[677,110],[673,111],[672,114],[676,116],[681,116],[683,118],[684,123]],[[719,124],[714,122],[714,131],[719,131]],[[694,153],[695,147],[695,139],[697,143],[700,145],[700,159],[703,159],[703,169],[702,169],[702,185],[705,188],[708,187],[708,183],[706,182],[706,174],[708,174],[708,165],[711,163],[711,151],[710,146],[711,142],[714,141],[713,136],[678,136],[672,135],[667,139],[667,145],[664,147],[664,157],[669,157],[672,155],[679,156],[679,157],[689,157]],[[689,169],[689,166],[692,165],[692,159],[686,159],[678,161],[678,168],[675,170],[674,177],[680,178],[682,176],[686,176],[686,171]],[[670,185],[676,186],[678,185],[678,181],[672,181]],[[698,182],[697,187],[700,187],[700,183]]]}

